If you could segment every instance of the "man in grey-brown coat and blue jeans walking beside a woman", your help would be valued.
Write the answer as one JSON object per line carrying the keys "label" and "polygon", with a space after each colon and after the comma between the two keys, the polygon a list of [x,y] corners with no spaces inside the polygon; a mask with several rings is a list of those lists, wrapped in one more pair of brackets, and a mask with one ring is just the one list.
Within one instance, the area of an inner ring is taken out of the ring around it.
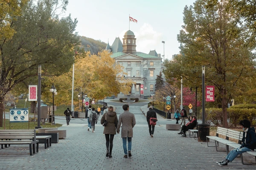
{"label": "man in grey-brown coat and blue jeans walking beside a woman", "polygon": [[128,156],[131,157],[131,138],[133,137],[133,127],[136,124],[135,116],[133,113],[129,112],[129,105],[122,106],[124,112],[120,114],[118,124],[116,127],[116,132],[120,132],[120,127],[122,124],[121,137],[124,149],[124,158],[127,157],[127,140],[128,140]]}

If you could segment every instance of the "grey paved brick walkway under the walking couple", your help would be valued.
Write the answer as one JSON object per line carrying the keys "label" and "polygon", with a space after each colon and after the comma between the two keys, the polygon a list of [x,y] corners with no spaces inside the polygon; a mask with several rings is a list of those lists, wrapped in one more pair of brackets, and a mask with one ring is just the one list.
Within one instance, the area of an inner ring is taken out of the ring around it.
{"label": "grey paved brick walkway under the walking couple", "polygon": [[[39,153],[29,156],[28,146],[13,145],[0,149],[0,170],[255,170],[256,165],[243,165],[236,158],[228,167],[219,167],[215,161],[221,161],[226,152],[217,152],[215,147],[207,147],[206,142],[194,138],[180,137],[178,131],[166,130],[164,122],[175,123],[158,116],[154,138],[148,133],[148,125],[142,111],[135,113],[137,125],[132,139],[132,157],[123,158],[121,135],[114,137],[113,158],[105,157],[105,136],[102,125],[97,124],[95,133],[87,131],[87,124],[73,124],[59,127],[67,130],[67,138],[58,144],[44,149],[39,144]],[[121,107],[116,108],[121,113]],[[119,115],[118,115],[119,116]],[[85,121],[86,122],[86,121]],[[210,144],[214,144],[210,142]],[[221,147],[224,149],[224,146]],[[253,161],[252,156],[244,154],[244,159]]]}

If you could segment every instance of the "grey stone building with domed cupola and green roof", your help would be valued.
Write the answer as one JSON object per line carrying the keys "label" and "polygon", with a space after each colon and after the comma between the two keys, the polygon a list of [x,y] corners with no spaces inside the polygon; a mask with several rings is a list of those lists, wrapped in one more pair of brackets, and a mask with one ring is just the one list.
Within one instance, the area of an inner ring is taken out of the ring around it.
{"label": "grey stone building with domed cupola and green roof", "polygon": [[[136,38],[130,30],[125,32],[122,41],[117,37],[111,46],[108,43],[106,50],[112,52],[116,64],[124,67],[125,79],[136,82],[131,87],[131,98],[146,99],[154,94],[157,75],[163,70],[161,54],[155,50],[148,54],[137,52]],[[118,98],[126,97],[122,93],[118,95]]]}

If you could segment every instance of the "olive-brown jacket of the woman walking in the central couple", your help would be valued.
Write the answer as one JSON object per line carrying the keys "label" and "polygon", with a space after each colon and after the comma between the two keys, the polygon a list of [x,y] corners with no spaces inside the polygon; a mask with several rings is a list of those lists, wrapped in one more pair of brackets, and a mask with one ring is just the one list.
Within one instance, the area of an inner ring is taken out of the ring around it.
{"label": "olive-brown jacket of the woman walking in the central couple", "polygon": [[104,113],[102,116],[102,119],[100,120],[100,123],[103,125],[104,120],[107,120],[107,125],[104,127],[103,134],[116,134],[116,126],[118,123],[118,118],[116,116],[116,112],[114,111],[108,111],[107,113]]}

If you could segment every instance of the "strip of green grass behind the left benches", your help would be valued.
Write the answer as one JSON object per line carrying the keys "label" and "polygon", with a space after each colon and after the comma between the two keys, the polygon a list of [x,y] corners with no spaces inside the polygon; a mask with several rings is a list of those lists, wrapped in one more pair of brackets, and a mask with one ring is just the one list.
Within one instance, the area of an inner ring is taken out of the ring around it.
{"label": "strip of green grass behind the left benches", "polygon": [[[9,119],[6,119],[5,121],[6,123],[6,129],[10,129],[10,121]],[[11,123],[11,129],[35,129],[35,127],[37,126],[37,122],[17,122],[17,123]],[[41,125],[41,127],[52,127],[52,128],[56,128],[56,127],[61,127],[61,124],[56,124],[56,125],[52,125],[51,123],[45,123],[45,125]],[[0,127],[0,130],[3,130],[4,127]]]}

